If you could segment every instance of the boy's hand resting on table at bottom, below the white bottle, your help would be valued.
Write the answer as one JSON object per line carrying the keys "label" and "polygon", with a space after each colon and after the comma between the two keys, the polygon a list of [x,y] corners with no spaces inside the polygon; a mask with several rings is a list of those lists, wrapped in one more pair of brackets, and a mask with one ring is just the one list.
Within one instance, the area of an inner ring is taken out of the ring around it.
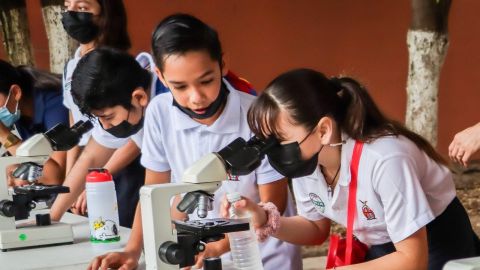
{"label": "boy's hand resting on table at bottom, below the white bottle", "polygon": [[137,252],[110,252],[93,259],[87,270],[107,270],[110,268],[133,270],[138,267],[139,259],[140,254]]}

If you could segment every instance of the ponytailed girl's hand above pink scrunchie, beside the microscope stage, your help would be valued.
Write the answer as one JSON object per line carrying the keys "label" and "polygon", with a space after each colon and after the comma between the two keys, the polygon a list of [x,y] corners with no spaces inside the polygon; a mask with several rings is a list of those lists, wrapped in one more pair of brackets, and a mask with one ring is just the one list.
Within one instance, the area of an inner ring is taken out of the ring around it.
{"label": "ponytailed girl's hand above pink scrunchie, beside the microscope stage", "polygon": [[[230,214],[228,213],[228,209],[230,208],[230,203],[227,200],[227,196],[223,196],[223,202],[220,206],[220,215],[224,218],[229,218]],[[242,197],[240,201],[235,202],[235,208],[240,211],[248,211],[252,215],[251,221],[253,227],[260,228],[268,221],[267,213],[265,210],[258,206],[255,202]]]}

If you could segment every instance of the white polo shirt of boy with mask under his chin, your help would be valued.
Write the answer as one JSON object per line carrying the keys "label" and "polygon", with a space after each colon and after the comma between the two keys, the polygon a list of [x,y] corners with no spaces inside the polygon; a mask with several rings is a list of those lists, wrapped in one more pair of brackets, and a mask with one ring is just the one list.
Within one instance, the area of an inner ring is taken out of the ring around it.
{"label": "white polo shirt of boy with mask under his chin", "polygon": [[[246,116],[255,97],[235,90],[226,80],[224,83],[230,91],[227,103],[220,117],[210,126],[194,121],[173,106],[171,93],[160,94],[151,101],[145,116],[142,145],[141,163],[145,168],[157,172],[171,171],[171,182],[180,182],[183,171],[204,155],[221,150],[238,137],[248,140],[253,136]],[[260,202],[257,185],[282,178],[267,159],[249,175],[232,176],[234,181],[224,181],[214,193],[214,209],[207,218],[219,216],[219,205],[226,192],[238,191]],[[293,215],[295,209],[289,197],[284,216]],[[302,269],[298,246],[273,237],[259,246],[265,269]]]}

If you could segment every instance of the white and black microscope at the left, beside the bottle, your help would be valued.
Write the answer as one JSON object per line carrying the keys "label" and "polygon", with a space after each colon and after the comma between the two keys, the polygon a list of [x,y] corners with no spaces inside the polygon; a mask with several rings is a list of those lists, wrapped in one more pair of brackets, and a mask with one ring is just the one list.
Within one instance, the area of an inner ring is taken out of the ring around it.
{"label": "white and black microscope at the left, beside the bottle", "polygon": [[[16,221],[27,219],[31,210],[52,195],[69,192],[68,187],[35,184],[35,180],[41,176],[41,164],[47,161],[52,151],[71,149],[92,127],[90,121],[79,121],[70,128],[57,124],[44,134],[36,134],[22,143],[16,156],[0,158],[0,250],[73,243],[71,225],[51,223],[49,214],[37,214],[36,224]],[[20,164],[13,175],[31,182],[31,185],[8,188],[6,171],[13,164]]]}

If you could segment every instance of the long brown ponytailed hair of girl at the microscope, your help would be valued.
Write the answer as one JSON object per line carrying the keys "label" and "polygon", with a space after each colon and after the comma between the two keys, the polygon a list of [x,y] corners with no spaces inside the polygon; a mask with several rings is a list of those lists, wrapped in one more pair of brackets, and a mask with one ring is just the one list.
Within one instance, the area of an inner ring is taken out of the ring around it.
{"label": "long brown ponytailed hair of girl at the microscope", "polygon": [[286,72],[275,78],[250,107],[250,128],[261,138],[267,134],[282,138],[276,127],[282,109],[288,111],[295,124],[309,131],[322,117],[329,116],[355,140],[368,143],[383,136],[403,135],[437,163],[446,164],[427,140],[388,119],[367,90],[352,78],[328,79],[311,69]]}

